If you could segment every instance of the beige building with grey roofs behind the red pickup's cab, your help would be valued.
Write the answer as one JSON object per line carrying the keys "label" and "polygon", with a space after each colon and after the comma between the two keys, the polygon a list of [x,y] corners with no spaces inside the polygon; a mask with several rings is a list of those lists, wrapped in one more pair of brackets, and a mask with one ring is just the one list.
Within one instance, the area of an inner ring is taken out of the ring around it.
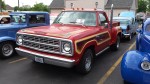
{"label": "beige building with grey roofs behind the red pickup's cab", "polygon": [[110,15],[111,4],[114,4],[114,16],[121,11],[136,12],[138,0],[53,0],[50,5],[51,12],[59,13],[65,8],[101,8]]}

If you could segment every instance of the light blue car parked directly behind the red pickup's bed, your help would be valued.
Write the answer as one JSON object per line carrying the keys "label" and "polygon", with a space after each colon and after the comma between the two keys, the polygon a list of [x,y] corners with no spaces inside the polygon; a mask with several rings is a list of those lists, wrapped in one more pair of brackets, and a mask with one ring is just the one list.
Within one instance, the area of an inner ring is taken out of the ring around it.
{"label": "light blue car parked directly behind the red pickup's bed", "polygon": [[120,27],[122,29],[122,37],[131,40],[132,36],[136,33],[135,24],[132,23],[131,17],[113,17],[114,21],[120,22]]}

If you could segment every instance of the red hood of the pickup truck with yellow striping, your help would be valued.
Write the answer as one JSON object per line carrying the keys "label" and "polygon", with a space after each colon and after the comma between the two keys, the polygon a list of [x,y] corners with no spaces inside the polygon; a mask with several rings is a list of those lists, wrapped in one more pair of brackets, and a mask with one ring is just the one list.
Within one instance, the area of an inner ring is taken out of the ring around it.
{"label": "red hood of the pickup truck with yellow striping", "polygon": [[20,33],[52,36],[67,39],[75,35],[81,35],[81,33],[87,32],[89,30],[90,28],[86,28],[83,26],[52,25],[23,29],[20,31]]}

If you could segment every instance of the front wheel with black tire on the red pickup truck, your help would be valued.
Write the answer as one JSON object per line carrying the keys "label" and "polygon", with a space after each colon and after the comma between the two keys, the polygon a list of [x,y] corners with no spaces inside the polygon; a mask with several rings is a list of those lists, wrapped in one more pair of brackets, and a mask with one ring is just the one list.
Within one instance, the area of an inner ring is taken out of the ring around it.
{"label": "front wheel with black tire on the red pickup truck", "polygon": [[83,54],[80,63],[75,67],[76,71],[80,74],[87,74],[91,71],[93,66],[93,52],[91,49],[87,49]]}

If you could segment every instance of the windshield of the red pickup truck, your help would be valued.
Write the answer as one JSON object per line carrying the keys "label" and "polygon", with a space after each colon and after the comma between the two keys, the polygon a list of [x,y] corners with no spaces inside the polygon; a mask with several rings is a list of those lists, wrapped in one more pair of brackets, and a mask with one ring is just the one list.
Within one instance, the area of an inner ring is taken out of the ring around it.
{"label": "windshield of the red pickup truck", "polygon": [[60,24],[96,26],[95,12],[62,12],[54,21]]}

